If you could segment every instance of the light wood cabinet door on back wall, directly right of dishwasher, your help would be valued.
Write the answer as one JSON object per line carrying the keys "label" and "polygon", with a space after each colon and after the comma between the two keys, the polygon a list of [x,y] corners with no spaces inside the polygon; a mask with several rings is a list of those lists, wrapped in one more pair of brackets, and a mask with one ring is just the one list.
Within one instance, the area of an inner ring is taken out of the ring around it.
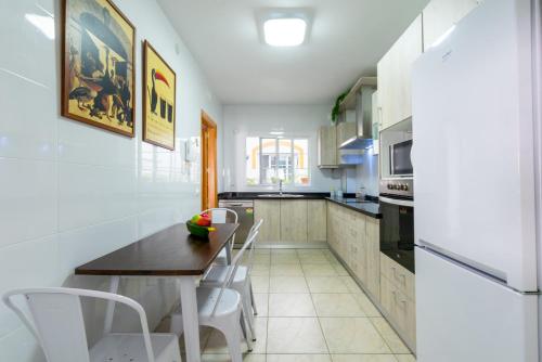
{"label": "light wood cabinet door on back wall, directly right of dishwasher", "polygon": [[255,199],[254,221],[263,219],[258,240],[263,243],[273,243],[281,240],[281,201]]}

